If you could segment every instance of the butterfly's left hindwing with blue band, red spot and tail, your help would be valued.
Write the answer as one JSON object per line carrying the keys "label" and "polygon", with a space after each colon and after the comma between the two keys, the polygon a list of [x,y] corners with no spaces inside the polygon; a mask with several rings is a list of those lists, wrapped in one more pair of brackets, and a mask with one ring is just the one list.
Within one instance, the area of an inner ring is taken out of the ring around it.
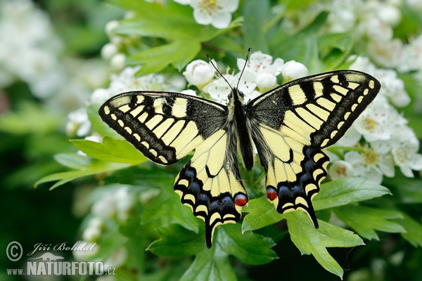
{"label": "butterfly's left hindwing with blue band, red spot and tail", "polygon": [[248,202],[238,171],[233,138],[221,129],[198,145],[191,161],[176,178],[174,190],[181,202],[205,222],[207,247],[217,226],[236,223]]}

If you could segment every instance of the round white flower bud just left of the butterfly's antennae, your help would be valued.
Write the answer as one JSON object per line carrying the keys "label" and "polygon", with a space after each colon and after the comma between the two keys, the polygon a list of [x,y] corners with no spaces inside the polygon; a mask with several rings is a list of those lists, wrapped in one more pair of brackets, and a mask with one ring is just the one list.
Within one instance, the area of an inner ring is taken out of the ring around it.
{"label": "round white flower bud just left of the butterfly's antennae", "polygon": [[204,60],[193,60],[193,62],[186,65],[186,70],[183,72],[188,83],[197,86],[199,89],[209,83],[214,74],[214,67],[212,67],[211,63],[207,63]]}

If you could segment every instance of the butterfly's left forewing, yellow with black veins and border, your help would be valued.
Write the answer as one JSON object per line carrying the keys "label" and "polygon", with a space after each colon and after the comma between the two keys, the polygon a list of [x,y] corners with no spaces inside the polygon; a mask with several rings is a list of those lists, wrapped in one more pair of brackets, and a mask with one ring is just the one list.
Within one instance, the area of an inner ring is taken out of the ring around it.
{"label": "butterfly's left forewing, yellow with black veins and border", "polygon": [[224,106],[181,93],[122,93],[99,110],[101,118],[158,164],[185,157],[224,124]]}

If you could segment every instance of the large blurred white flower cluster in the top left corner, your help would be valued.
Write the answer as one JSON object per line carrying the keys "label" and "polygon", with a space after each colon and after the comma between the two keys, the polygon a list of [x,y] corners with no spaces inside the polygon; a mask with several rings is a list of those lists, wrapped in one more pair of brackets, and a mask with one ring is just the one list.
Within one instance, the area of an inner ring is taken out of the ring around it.
{"label": "large blurred white flower cluster in the top left corner", "polygon": [[62,43],[48,15],[30,0],[1,1],[0,34],[0,87],[20,79],[39,98],[56,93],[65,79]]}

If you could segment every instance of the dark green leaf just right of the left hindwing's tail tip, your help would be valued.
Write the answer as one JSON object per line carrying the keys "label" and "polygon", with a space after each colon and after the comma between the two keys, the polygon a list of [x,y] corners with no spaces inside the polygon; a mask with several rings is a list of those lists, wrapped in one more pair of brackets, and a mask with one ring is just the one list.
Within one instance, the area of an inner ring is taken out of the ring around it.
{"label": "dark green leaf just right of the left hindwing's tail tip", "polygon": [[243,263],[258,265],[278,259],[271,249],[275,243],[271,238],[248,231],[241,233],[241,225],[227,224],[216,230],[215,244],[227,254],[236,256]]}

